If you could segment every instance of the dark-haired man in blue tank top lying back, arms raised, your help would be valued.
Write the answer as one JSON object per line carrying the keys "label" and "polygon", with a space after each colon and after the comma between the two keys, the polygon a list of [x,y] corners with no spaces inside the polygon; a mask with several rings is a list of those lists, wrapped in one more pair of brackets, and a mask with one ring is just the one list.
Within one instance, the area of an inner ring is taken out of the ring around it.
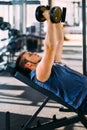
{"label": "dark-haired man in blue tank top lying back, arms raised", "polygon": [[53,24],[49,11],[43,15],[48,24],[43,57],[23,52],[17,59],[16,68],[28,72],[32,81],[53,92],[73,108],[81,106],[85,108],[83,111],[87,111],[87,78],[61,63],[64,39],[61,23]]}

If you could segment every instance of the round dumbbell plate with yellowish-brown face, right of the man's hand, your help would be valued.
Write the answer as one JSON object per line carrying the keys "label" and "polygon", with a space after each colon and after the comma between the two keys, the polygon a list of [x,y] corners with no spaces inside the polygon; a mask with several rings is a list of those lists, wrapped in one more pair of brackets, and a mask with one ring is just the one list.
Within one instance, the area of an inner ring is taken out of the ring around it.
{"label": "round dumbbell plate with yellowish-brown face, right of the man's hand", "polygon": [[62,10],[60,7],[55,6],[50,11],[50,19],[52,23],[59,23],[62,17]]}

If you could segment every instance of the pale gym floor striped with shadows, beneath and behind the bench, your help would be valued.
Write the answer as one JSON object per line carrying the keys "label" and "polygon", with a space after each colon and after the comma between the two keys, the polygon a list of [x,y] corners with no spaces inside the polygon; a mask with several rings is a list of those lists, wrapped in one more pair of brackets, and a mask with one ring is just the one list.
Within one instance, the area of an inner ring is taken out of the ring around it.
{"label": "pale gym floor striped with shadows, beneath and behind the bench", "polygon": [[[69,40],[64,42],[62,61],[82,73],[82,35],[67,34],[66,37]],[[43,55],[43,52],[40,54]],[[7,111],[10,112],[10,130],[20,130],[21,126],[38,109],[44,98],[44,95],[13,78],[10,74],[0,73],[0,130],[6,130]],[[39,113],[38,118],[44,122],[51,119],[54,114],[57,118],[74,115],[71,112],[59,112],[60,106],[50,100]],[[55,130],[86,130],[86,128],[79,122]]]}

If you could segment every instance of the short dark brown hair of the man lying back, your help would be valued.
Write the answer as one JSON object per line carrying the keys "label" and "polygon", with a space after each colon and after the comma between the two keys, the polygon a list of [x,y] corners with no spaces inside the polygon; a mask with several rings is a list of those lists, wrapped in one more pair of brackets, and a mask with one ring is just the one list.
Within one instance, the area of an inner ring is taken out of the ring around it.
{"label": "short dark brown hair of the man lying back", "polygon": [[28,74],[31,72],[31,70],[29,68],[25,67],[25,64],[28,62],[28,60],[26,58],[23,57],[23,55],[26,53],[26,51],[22,52],[17,60],[16,60],[16,64],[15,64],[15,69],[18,70],[19,72],[25,74],[26,76],[28,76]]}

